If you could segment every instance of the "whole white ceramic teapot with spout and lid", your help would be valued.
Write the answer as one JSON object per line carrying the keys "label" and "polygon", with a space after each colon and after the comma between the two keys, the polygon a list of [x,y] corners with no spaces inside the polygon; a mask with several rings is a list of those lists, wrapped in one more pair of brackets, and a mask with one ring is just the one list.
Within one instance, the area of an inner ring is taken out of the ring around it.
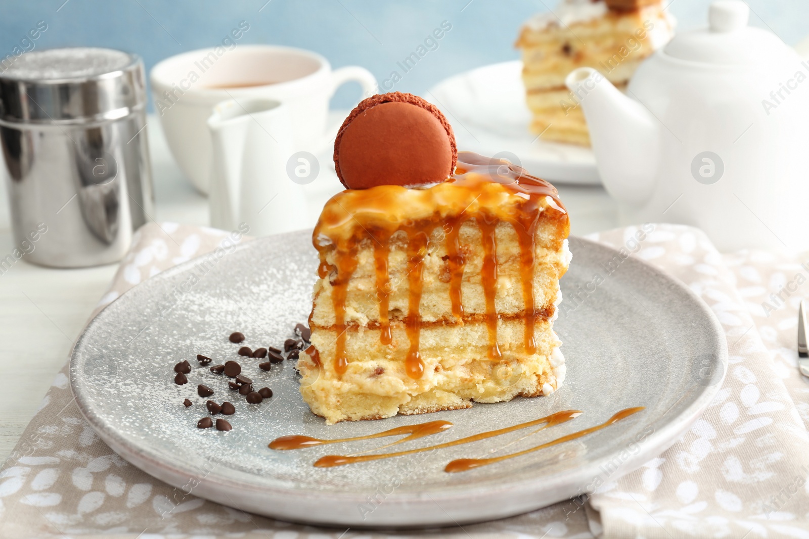
{"label": "whole white ceramic teapot with spout and lid", "polygon": [[809,248],[809,62],[748,19],[713,2],[709,28],[644,61],[626,95],[595,69],[567,77],[624,223],[695,225],[720,251]]}

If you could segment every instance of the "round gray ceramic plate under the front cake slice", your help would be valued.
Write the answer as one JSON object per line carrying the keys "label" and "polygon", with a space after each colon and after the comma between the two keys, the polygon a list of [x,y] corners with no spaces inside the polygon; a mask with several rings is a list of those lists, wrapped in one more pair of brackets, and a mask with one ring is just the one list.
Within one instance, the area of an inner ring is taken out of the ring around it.
{"label": "round gray ceramic plate under the front cake slice", "polygon": [[[231,331],[242,331],[248,346],[277,346],[292,336],[295,322],[307,319],[317,265],[309,234],[249,242],[207,271],[198,260],[184,263],[125,293],[87,326],[74,350],[70,383],[81,411],[110,447],[178,489],[282,520],[351,527],[464,524],[532,511],[637,468],[697,419],[724,376],[722,329],[688,288],[646,263],[616,263],[616,251],[574,238],[573,263],[562,280],[571,308],[556,322],[568,365],[561,390],[462,411],[326,426],[301,400],[293,362],[265,373],[257,360],[236,356],[238,346],[227,340]],[[612,274],[605,269],[610,261],[617,267]],[[595,286],[595,275],[604,282]],[[197,353],[220,362],[240,359],[244,373],[275,396],[248,404],[227,390],[227,378],[199,367]],[[178,386],[172,368],[184,359],[193,371],[190,383]],[[196,428],[206,415],[198,383],[210,385],[218,402],[235,402],[231,432]],[[193,406],[186,409],[184,398]],[[631,406],[646,410],[524,457],[464,473],[443,471],[454,458],[529,448]],[[312,463],[389,439],[286,452],[267,448],[289,434],[343,438],[434,419],[455,424],[398,446],[413,448],[571,408],[584,414],[532,436],[513,432],[336,468]]]}

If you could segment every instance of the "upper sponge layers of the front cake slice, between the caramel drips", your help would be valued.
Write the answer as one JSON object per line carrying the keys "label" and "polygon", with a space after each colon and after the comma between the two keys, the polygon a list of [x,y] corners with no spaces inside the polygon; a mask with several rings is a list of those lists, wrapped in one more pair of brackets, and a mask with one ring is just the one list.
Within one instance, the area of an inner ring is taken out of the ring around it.
{"label": "upper sponge layers of the front cake slice, between the caramel drips", "polygon": [[[505,222],[498,224],[497,286],[495,308],[498,314],[523,313],[525,301],[521,275],[520,249],[514,228]],[[566,235],[566,234],[565,234]],[[447,230],[438,226],[427,243],[426,255],[421,263],[421,283],[424,290],[419,305],[423,322],[453,320],[451,302],[451,268],[447,255]],[[562,239],[555,221],[542,223],[536,233],[535,265],[533,271],[534,310],[540,315],[553,315],[557,283],[567,267],[566,239]],[[461,281],[461,299],[466,316],[485,314],[485,296],[481,270],[485,252],[481,246],[481,230],[475,221],[467,221],[460,228],[459,251],[465,259]],[[357,268],[348,283],[345,299],[345,322],[366,326],[379,322],[379,289],[375,266],[375,240],[367,238],[358,248]],[[386,250],[387,251],[387,250]],[[326,254],[327,263],[333,265],[334,255]],[[409,274],[414,261],[407,252],[407,236],[398,232],[391,238],[388,254],[388,287],[382,292],[388,296],[388,318],[403,320],[408,314]],[[315,287],[316,302],[311,324],[328,327],[335,323],[333,309],[334,288],[330,279],[321,279]]]}

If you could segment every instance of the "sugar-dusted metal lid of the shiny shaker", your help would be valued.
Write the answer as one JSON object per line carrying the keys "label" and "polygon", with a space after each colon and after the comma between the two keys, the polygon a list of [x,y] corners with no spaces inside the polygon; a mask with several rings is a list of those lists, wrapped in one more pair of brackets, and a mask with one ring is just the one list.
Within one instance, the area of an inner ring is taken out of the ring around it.
{"label": "sugar-dusted metal lid of the shiny shaker", "polygon": [[104,122],[146,105],[143,62],[112,48],[34,51],[0,69],[0,123]]}

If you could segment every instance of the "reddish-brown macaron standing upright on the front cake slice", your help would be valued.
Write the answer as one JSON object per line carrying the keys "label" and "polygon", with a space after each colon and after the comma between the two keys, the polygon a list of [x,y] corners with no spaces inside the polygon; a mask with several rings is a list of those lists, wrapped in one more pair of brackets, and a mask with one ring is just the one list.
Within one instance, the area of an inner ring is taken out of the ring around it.
{"label": "reddish-brown macaron standing upright on the front cake slice", "polygon": [[391,92],[362,100],[334,141],[337,177],[349,189],[443,182],[458,149],[447,118],[417,95]]}

